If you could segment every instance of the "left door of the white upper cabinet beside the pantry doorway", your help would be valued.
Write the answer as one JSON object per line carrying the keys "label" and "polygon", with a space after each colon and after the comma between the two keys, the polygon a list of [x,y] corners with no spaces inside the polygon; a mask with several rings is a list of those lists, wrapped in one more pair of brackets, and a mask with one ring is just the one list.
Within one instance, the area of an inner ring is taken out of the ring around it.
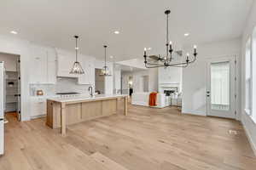
{"label": "left door of the white upper cabinet beside the pantry doorway", "polygon": [[44,48],[33,46],[31,48],[31,83],[47,82],[47,53]]}

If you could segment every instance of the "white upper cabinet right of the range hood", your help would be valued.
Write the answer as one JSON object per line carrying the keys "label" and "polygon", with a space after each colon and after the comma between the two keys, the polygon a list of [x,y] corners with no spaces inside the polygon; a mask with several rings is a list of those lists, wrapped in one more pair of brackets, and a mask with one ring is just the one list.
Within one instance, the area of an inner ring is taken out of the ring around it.
{"label": "white upper cabinet right of the range hood", "polygon": [[82,57],[81,65],[84,69],[84,75],[79,76],[79,84],[95,84],[95,65],[94,59],[90,57]]}

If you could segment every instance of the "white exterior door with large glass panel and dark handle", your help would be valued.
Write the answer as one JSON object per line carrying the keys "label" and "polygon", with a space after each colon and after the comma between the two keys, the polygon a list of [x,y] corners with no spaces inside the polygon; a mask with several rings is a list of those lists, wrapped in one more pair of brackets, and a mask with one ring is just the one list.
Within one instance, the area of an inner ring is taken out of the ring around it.
{"label": "white exterior door with large glass panel and dark handle", "polygon": [[207,116],[236,118],[236,57],[207,60]]}

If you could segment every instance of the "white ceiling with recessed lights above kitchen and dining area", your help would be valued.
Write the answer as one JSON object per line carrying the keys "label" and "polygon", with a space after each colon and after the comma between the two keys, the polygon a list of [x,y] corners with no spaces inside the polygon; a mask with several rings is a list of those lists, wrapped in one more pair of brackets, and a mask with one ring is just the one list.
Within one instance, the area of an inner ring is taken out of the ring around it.
{"label": "white ceiling with recessed lights above kitchen and dining area", "polygon": [[[214,42],[241,36],[253,0],[1,0],[0,34],[26,38],[57,48],[80,50],[103,58],[103,44],[115,60],[142,57],[165,49],[170,8],[174,46]],[[120,31],[119,35],[113,31]],[[183,34],[189,32],[189,37]]]}

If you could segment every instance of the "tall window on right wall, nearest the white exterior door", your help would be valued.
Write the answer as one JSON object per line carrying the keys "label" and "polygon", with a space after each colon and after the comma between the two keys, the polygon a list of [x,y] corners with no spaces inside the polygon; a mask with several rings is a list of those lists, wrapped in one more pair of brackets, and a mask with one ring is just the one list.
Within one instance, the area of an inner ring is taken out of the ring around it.
{"label": "tall window on right wall, nearest the white exterior door", "polygon": [[245,110],[252,114],[252,51],[251,38],[247,40],[245,52]]}

